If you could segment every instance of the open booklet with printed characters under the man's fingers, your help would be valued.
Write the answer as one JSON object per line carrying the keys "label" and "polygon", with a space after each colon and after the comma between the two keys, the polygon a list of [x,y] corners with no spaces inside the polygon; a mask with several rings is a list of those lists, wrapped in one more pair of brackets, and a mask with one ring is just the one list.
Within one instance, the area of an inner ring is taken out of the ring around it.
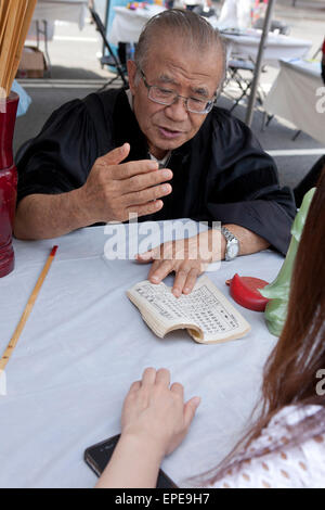
{"label": "open booklet with printed characters under the man's fingers", "polygon": [[216,285],[202,277],[191,294],[174,297],[165,283],[145,280],[129,289],[129,299],[139,308],[143,320],[162,339],[169,331],[187,329],[196,342],[221,343],[239,339],[249,323]]}

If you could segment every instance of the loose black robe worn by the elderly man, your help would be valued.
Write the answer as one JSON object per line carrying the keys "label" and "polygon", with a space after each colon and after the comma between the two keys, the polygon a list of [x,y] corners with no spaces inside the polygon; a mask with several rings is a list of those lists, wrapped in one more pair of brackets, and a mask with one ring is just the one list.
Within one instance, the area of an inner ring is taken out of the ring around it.
{"label": "loose black robe worn by the elderly man", "polygon": [[[125,142],[131,146],[126,161],[150,157],[125,90],[64,104],[17,162],[17,202],[32,193],[81,187],[95,160]],[[158,213],[141,221],[192,218],[239,225],[286,253],[296,214],[291,191],[280,188],[273,160],[226,110],[213,107],[195,137],[171,152],[166,166],[173,171],[172,192]]]}

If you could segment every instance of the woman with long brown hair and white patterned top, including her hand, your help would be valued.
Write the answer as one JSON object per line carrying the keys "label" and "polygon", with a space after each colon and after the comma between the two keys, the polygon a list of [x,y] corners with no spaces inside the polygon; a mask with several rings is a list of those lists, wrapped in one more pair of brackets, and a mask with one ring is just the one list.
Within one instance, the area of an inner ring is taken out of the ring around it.
{"label": "woman with long brown hair and white patterned top, including her hand", "polygon": [[[219,467],[188,485],[325,488],[324,204],[325,167],[297,252],[287,320],[264,366],[260,416]],[[184,404],[168,370],[146,369],[125,399],[121,436],[96,487],[155,487],[198,405],[199,397]]]}

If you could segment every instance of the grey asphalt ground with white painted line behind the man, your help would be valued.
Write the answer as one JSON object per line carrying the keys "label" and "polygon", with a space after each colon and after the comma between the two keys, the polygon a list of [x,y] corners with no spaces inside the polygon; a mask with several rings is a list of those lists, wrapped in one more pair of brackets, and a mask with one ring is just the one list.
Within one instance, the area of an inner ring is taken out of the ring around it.
{"label": "grey asphalt ground with white painted line behind the man", "polygon": [[[220,2],[216,3],[220,5]],[[325,36],[325,2],[277,0],[275,18],[290,26],[290,35],[313,42],[309,56],[313,56]],[[42,49],[42,46],[41,46]],[[32,99],[26,115],[16,120],[14,150],[27,139],[36,136],[49,115],[61,104],[75,98],[82,98],[95,91],[109,77],[107,69],[102,69],[98,54],[102,43],[93,25],[89,22],[82,31],[77,25],[57,23],[53,41],[49,42],[51,58],[51,79],[20,80]],[[277,69],[268,68],[262,75],[262,85],[268,90],[275,79]],[[114,84],[115,86],[118,82]],[[231,101],[222,94],[219,104],[230,107]],[[245,104],[235,109],[234,114],[244,119]],[[285,155],[274,156],[283,184],[295,187],[314,162],[325,154],[325,148],[306,133],[296,141],[294,126],[281,119],[273,119],[265,131],[261,131],[262,113],[257,111],[253,116],[252,130],[264,150],[282,150]],[[325,119],[324,119],[325,127]],[[289,155],[288,151],[295,151]],[[302,151],[302,152],[301,152]],[[287,152],[287,154],[286,154]],[[296,154],[295,154],[296,153]]]}

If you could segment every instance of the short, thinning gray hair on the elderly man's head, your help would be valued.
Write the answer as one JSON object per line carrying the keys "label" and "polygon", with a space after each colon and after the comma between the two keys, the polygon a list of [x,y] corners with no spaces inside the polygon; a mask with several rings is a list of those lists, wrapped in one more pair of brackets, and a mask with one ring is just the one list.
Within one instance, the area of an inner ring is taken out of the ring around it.
{"label": "short, thinning gray hair on the elderly man's head", "polygon": [[222,67],[222,79],[220,80],[217,94],[222,89],[225,76],[225,48],[223,40],[217,29],[214,29],[206,18],[195,14],[192,11],[182,11],[179,9],[169,9],[153,16],[142,29],[139,42],[135,47],[134,61],[138,68],[136,78],[140,79],[139,69],[142,69],[146,63],[153,42],[159,38],[164,31],[172,33],[186,41],[193,50],[204,52],[211,51],[220,54]]}

